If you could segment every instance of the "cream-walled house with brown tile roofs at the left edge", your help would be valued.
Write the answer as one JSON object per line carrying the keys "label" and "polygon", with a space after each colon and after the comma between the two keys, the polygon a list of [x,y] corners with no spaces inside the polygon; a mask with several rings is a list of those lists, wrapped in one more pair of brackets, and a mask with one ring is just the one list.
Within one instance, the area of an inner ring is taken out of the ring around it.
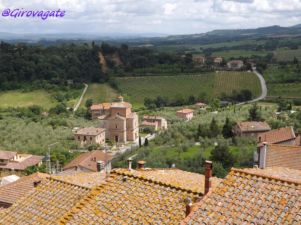
{"label": "cream-walled house with brown tile roofs at the left edge", "polygon": [[23,154],[22,152],[10,152],[0,150],[0,171],[9,172],[14,170],[22,173],[26,167],[40,166],[42,164],[40,155]]}

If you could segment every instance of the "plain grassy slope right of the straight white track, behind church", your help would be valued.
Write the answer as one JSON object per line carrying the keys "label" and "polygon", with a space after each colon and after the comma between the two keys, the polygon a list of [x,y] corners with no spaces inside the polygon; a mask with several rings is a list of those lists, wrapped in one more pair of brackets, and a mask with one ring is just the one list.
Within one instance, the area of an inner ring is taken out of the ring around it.
{"label": "plain grassy slope right of the straight white track, behind church", "polygon": [[118,91],[113,89],[109,84],[92,83],[88,85],[88,89],[82,98],[80,106],[84,106],[86,100],[89,98],[93,98],[93,103],[103,103],[112,101],[118,96]]}

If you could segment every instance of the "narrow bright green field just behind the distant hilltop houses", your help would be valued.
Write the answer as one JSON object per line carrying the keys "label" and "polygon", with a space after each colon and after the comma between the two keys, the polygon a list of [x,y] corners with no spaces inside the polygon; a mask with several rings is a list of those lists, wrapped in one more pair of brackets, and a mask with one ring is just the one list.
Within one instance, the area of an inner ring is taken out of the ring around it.
{"label": "narrow bright green field just behind the distant hilltop houses", "polygon": [[[255,52],[255,51],[246,51],[246,50],[229,50],[229,51],[221,51],[221,52],[213,52],[212,57],[223,57],[226,60],[229,60],[230,57],[239,58],[239,56],[243,57],[251,57],[251,55],[260,55],[262,57],[266,56],[268,53],[274,53],[272,51],[270,52]],[[196,56],[204,56],[203,54],[194,54],[193,57]]]}

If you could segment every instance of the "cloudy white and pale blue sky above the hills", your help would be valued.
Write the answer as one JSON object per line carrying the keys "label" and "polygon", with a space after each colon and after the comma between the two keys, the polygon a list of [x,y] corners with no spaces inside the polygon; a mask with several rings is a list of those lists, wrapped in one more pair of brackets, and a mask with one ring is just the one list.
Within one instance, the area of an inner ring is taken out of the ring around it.
{"label": "cloudy white and pale blue sky above the hills", "polygon": [[[2,16],[17,8],[66,13],[45,20]],[[12,33],[195,34],[299,23],[300,0],[0,0],[0,32]]]}

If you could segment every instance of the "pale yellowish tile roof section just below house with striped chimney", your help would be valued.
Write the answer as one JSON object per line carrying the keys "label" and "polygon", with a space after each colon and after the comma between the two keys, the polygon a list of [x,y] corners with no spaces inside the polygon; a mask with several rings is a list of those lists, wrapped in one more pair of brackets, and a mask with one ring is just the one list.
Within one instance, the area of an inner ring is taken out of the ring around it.
{"label": "pale yellowish tile roof section just below house with striped chimney", "polygon": [[[79,171],[79,170],[78,170]],[[109,171],[110,172],[110,171]],[[57,176],[57,179],[65,182],[71,182],[73,184],[80,184],[85,187],[93,188],[98,185],[101,180],[105,178],[107,173],[105,171],[95,172],[95,173],[82,173],[82,174],[64,174],[62,176]]]}

